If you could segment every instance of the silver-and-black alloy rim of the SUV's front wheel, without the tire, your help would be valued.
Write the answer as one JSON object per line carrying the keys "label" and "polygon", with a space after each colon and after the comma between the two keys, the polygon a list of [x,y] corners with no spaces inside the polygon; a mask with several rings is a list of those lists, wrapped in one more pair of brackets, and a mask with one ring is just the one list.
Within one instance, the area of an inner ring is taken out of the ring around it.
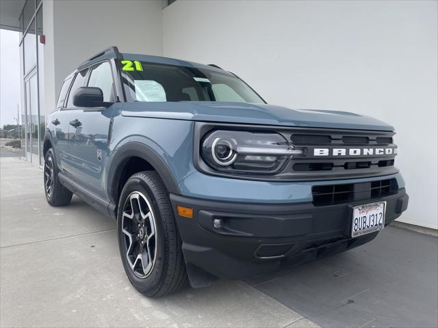
{"label": "silver-and-black alloy rim of the SUV's front wheel, without the tire", "polygon": [[149,200],[138,191],[131,193],[123,206],[122,233],[133,273],[148,277],[156,260],[156,225]]}

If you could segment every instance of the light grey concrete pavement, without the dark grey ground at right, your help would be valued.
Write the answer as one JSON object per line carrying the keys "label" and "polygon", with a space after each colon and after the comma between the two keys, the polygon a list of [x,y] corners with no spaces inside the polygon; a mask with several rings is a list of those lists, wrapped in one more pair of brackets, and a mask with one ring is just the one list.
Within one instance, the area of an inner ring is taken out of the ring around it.
{"label": "light grey concrete pavement, without the dark grey ground at right", "polygon": [[41,169],[0,164],[1,327],[317,327],[244,282],[144,297],[123,271],[114,221],[77,197],[53,208]]}

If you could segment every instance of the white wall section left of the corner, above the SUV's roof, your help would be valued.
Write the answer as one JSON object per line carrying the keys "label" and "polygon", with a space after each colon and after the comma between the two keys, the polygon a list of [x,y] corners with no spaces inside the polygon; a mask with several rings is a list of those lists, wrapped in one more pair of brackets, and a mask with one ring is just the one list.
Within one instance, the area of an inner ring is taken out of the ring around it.
{"label": "white wall section left of the corner, above the SUV's roof", "polygon": [[162,55],[163,0],[44,0],[45,113],[68,73],[108,46]]}

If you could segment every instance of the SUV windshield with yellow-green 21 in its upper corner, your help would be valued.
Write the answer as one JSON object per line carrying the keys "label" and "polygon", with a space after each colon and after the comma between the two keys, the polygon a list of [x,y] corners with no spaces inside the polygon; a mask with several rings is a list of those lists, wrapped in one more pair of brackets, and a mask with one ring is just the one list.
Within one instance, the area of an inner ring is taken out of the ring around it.
{"label": "SUV windshield with yellow-green 21 in its upper corner", "polygon": [[120,61],[128,101],[235,101],[263,103],[231,74],[145,61]]}

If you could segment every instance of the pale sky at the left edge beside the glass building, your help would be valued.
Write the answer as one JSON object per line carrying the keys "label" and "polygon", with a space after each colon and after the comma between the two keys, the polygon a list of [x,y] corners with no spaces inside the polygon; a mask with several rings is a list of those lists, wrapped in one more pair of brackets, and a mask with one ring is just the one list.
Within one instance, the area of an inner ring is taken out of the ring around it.
{"label": "pale sky at the left edge beside the glass building", "polygon": [[0,128],[15,122],[20,100],[19,33],[0,29]]}

